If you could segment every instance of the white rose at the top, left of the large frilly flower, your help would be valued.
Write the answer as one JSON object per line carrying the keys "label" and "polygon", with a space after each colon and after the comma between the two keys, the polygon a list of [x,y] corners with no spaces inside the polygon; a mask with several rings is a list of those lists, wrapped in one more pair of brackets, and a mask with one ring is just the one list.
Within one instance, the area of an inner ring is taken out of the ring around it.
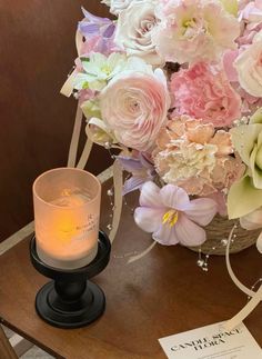
{"label": "white rose at the top, left of the large frilly flower", "polygon": [[157,53],[151,38],[157,24],[155,6],[155,0],[133,0],[129,8],[121,11],[115,30],[115,43],[122,47],[128,56],[138,56],[148,63],[160,66],[163,59]]}

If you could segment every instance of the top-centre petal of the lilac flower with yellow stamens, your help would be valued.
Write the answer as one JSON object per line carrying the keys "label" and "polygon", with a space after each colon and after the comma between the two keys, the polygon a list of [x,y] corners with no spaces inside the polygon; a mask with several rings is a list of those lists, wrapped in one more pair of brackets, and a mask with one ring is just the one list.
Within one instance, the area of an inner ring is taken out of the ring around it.
{"label": "top-centre petal of the lilac flower with yellow stamens", "polygon": [[160,190],[160,197],[165,207],[184,210],[190,205],[188,193],[180,187],[167,185]]}

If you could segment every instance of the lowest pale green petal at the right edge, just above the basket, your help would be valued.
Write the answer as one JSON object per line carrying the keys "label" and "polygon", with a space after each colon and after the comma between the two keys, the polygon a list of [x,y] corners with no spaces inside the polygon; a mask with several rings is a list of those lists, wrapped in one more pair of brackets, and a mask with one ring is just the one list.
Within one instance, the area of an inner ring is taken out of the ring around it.
{"label": "lowest pale green petal at the right edge, just above the basket", "polygon": [[262,190],[254,188],[252,178],[243,177],[234,182],[228,196],[229,219],[240,218],[262,206]]}

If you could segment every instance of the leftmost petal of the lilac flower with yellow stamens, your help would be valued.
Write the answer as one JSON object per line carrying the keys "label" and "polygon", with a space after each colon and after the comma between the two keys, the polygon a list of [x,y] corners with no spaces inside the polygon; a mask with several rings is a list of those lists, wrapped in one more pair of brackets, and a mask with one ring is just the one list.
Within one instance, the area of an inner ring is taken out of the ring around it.
{"label": "leftmost petal of the lilac flower with yellow stamens", "polygon": [[134,211],[135,223],[145,232],[152,233],[162,226],[164,210],[138,207]]}

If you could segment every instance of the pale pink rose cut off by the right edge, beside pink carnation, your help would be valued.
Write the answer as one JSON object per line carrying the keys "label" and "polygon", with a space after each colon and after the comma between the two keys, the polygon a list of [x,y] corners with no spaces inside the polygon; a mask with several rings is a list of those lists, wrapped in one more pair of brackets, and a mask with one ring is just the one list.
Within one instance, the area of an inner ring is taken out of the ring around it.
{"label": "pale pink rose cut off by the right edge, beside pink carnation", "polygon": [[241,87],[254,97],[262,97],[262,30],[253,43],[234,61]]}

